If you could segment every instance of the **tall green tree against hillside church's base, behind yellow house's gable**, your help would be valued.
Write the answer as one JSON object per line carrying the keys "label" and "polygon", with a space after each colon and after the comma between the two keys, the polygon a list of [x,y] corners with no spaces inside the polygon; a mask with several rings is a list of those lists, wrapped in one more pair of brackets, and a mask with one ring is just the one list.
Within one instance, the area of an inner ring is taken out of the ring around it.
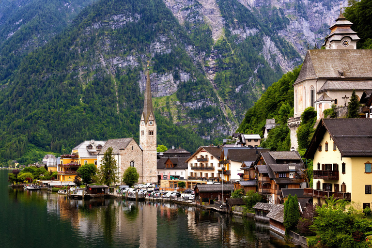
{"label": "tall green tree against hillside church's base, behind yellow house's gable", "polygon": [[312,107],[306,108],[301,114],[301,124],[297,129],[297,143],[299,150],[308,148],[312,135],[315,132],[315,122],[316,110]]}

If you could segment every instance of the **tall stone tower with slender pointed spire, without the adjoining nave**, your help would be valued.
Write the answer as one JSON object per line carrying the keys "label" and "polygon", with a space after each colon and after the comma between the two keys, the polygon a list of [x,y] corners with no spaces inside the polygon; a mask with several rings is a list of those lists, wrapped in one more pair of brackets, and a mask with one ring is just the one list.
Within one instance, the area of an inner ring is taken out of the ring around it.
{"label": "tall stone tower with slender pointed spire, without the adjoining nave", "polygon": [[156,121],[151,95],[150,69],[147,64],[147,80],[145,90],[145,102],[140,122],[140,147],[142,153],[142,180],[139,182],[157,182],[156,173]]}

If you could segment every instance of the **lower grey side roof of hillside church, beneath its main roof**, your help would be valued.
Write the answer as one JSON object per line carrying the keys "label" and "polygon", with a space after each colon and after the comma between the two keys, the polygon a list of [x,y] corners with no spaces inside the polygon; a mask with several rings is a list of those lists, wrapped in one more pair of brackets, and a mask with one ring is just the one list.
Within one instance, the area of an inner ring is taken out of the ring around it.
{"label": "lower grey side roof of hillside church, beneath its main roof", "polygon": [[370,91],[372,80],[327,80],[318,93],[326,91]]}

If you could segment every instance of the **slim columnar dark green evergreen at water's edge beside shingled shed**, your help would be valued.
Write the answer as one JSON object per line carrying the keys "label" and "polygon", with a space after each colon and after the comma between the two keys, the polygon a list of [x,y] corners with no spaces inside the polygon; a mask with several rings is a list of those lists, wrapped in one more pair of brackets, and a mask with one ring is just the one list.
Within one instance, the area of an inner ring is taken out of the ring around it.
{"label": "slim columnar dark green evergreen at water's edge beside shingled shed", "polygon": [[298,219],[300,218],[300,211],[298,208],[297,195],[288,195],[287,201],[284,202],[284,227],[285,233],[288,235],[288,231],[294,231]]}

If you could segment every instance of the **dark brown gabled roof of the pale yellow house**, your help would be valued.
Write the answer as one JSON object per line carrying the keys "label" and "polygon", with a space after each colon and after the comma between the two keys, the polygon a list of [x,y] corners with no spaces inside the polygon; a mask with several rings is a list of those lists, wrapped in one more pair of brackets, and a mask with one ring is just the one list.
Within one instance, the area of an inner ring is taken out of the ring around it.
{"label": "dark brown gabled roof of the pale yellow house", "polygon": [[306,158],[314,157],[325,132],[336,143],[341,157],[372,156],[372,119],[321,119],[306,150]]}

